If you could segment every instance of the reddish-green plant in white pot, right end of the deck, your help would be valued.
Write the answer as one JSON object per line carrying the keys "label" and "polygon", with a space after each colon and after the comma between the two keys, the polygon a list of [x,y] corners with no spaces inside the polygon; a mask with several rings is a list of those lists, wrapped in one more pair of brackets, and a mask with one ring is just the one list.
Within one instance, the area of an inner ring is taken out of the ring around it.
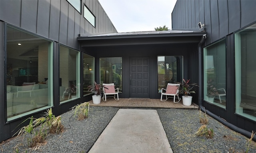
{"label": "reddish-green plant in white pot, right end of the deck", "polygon": [[190,79],[183,79],[182,82],[178,82],[180,84],[179,93],[184,94],[184,96],[182,96],[182,104],[185,106],[190,106],[192,104],[192,96],[188,95],[190,95],[191,93],[196,93],[194,87],[198,86],[196,83],[189,84],[189,82]]}

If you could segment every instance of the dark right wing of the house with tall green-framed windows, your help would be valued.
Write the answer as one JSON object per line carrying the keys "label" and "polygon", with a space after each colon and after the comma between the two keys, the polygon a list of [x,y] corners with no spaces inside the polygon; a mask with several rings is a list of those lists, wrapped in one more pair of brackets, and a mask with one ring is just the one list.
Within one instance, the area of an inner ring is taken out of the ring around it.
{"label": "dark right wing of the house with tall green-framed windows", "polygon": [[173,30],[201,22],[207,33],[198,103],[249,134],[256,129],[255,7],[254,0],[177,0],[172,12]]}

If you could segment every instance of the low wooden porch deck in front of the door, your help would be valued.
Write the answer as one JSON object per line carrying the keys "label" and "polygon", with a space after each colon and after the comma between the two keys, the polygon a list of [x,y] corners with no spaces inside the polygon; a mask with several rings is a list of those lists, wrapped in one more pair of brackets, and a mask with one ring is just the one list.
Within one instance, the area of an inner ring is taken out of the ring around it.
{"label": "low wooden porch deck in front of the door", "polygon": [[174,103],[173,99],[170,98],[165,102],[160,99],[148,99],[148,98],[119,98],[118,101],[114,98],[107,98],[104,102],[101,100],[100,104],[93,104],[90,101],[90,106],[108,106],[108,107],[130,107],[130,108],[188,108],[198,109],[198,106],[192,103],[191,106],[184,106],[182,100],[178,103]]}

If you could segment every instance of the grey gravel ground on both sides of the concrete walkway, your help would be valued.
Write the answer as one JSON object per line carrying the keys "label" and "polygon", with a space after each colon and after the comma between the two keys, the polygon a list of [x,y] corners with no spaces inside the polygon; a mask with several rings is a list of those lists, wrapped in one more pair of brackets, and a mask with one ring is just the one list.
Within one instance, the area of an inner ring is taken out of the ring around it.
{"label": "grey gravel ground on both sides of the concrete walkway", "polygon": [[[64,132],[48,135],[46,143],[36,151],[29,149],[26,138],[15,137],[0,145],[2,153],[86,153],[98,136],[106,128],[119,108],[90,106],[87,119],[78,121],[72,111],[62,114]],[[166,131],[174,153],[243,153],[246,151],[247,137],[223,126],[208,116],[208,127],[214,130],[214,137],[207,139],[194,135],[201,126],[199,110],[156,109]],[[150,134],[150,133],[149,133]],[[18,151],[16,151],[16,149]],[[251,148],[249,153],[256,153]]]}

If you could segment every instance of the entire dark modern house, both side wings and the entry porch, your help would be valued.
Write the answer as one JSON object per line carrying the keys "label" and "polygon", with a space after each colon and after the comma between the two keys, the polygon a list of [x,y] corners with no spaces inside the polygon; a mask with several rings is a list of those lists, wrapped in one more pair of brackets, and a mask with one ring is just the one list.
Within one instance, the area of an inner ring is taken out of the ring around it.
{"label": "entire dark modern house, both side wings and the entry porch", "polygon": [[117,33],[98,0],[0,0],[0,141],[28,117],[91,100],[94,81],[119,98],[160,99],[167,83],[191,79],[194,103],[254,130],[254,6],[178,0],[173,30]]}

